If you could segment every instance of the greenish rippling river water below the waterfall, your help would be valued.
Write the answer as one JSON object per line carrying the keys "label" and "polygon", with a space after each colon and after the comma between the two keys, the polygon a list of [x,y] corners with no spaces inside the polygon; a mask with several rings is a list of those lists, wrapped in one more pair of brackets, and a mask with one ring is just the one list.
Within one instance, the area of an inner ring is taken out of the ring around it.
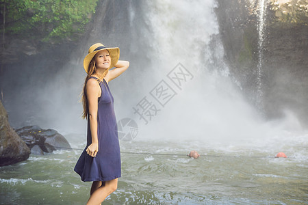
{"label": "greenish rippling river water below the waterfall", "polygon": [[[83,135],[66,137],[73,148],[84,148]],[[104,204],[307,204],[307,137],[271,139],[250,148],[121,141],[122,152],[153,154],[121,155],[123,177]],[[188,158],[190,150],[201,157]],[[274,158],[281,151],[287,159]],[[80,153],[31,155],[0,167],[0,204],[86,204],[91,182],[81,182],[73,172]]]}

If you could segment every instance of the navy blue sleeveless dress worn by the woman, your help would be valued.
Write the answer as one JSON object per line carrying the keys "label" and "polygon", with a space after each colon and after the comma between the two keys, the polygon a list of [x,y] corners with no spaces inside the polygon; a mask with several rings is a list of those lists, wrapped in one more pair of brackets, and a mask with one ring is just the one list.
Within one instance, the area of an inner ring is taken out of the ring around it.
{"label": "navy blue sleeveless dress worn by the woman", "polygon": [[[91,78],[97,79],[96,77]],[[86,152],[86,149],[92,143],[90,120],[88,118],[87,146],[81,153],[74,169],[84,182],[104,182],[121,176],[120,146],[118,142],[118,126],[114,113],[114,97],[105,79],[100,82],[100,86],[101,97],[98,98],[97,111],[99,152],[97,152],[96,157],[92,157]]]}

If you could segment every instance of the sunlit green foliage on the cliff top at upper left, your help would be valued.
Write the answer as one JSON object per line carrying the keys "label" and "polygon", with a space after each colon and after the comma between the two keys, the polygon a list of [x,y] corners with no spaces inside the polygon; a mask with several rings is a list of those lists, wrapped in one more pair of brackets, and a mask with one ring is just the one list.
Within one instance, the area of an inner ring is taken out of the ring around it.
{"label": "sunlit green foliage on the cliff top at upper left", "polygon": [[[77,38],[99,0],[0,0],[5,35],[60,42]],[[3,32],[3,22],[1,22]]]}

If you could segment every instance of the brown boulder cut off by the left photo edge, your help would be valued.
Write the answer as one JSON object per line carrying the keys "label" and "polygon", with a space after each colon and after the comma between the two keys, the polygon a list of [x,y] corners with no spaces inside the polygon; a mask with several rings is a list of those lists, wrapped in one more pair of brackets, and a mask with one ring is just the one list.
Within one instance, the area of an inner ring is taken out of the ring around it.
{"label": "brown boulder cut off by the left photo edge", "polygon": [[0,166],[29,158],[30,149],[8,122],[8,113],[0,101]]}

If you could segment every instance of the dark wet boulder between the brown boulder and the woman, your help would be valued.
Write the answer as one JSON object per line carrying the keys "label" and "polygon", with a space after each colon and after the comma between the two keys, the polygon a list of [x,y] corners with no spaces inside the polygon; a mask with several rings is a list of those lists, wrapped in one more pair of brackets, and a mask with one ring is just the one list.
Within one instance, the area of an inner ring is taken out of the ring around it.
{"label": "dark wet boulder between the brown boulder and the woman", "polygon": [[24,126],[18,128],[16,133],[27,143],[31,154],[44,155],[54,150],[71,149],[65,137],[53,129],[44,130],[39,126]]}

